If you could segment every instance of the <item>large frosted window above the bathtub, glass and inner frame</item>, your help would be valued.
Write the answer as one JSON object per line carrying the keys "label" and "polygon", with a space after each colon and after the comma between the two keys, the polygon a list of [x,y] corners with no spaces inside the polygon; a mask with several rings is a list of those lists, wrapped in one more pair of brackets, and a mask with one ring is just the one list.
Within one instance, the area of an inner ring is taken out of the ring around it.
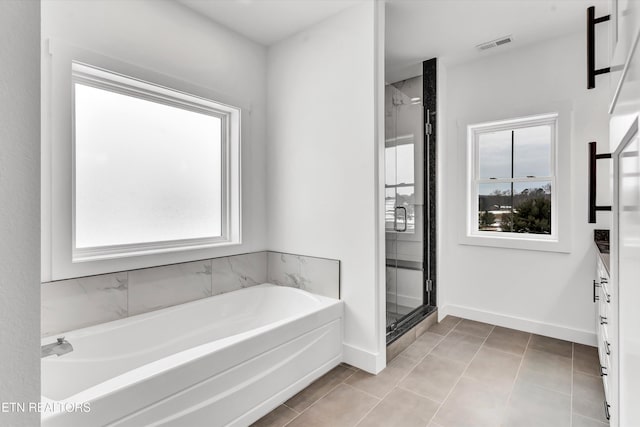
{"label": "large frosted window above the bathtub, glass and inner frame", "polygon": [[73,262],[239,243],[240,110],[72,70]]}

